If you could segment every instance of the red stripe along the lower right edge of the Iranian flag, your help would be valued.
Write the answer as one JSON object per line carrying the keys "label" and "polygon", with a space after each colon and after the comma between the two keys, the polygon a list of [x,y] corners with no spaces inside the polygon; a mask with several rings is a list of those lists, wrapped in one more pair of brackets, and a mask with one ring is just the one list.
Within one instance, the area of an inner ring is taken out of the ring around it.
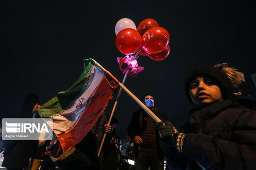
{"label": "red stripe along the lower right edge of the Iranian flag", "polygon": [[86,136],[105,110],[108,101],[113,98],[114,91],[115,89],[109,86],[109,81],[103,78],[92,98],[89,98],[91,102],[75,126],[70,131],[68,129],[57,135],[63,151],[71,149]]}

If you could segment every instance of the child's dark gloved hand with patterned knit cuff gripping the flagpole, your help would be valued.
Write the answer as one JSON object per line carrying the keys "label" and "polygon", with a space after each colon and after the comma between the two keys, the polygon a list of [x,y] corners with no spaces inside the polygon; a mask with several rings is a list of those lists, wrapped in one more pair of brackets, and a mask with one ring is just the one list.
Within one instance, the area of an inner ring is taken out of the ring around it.
{"label": "child's dark gloved hand with patterned knit cuff gripping the flagpole", "polygon": [[158,122],[156,128],[159,130],[160,138],[166,146],[174,146],[178,153],[182,153],[185,134],[179,133],[169,121],[165,122],[164,125],[162,121]]}

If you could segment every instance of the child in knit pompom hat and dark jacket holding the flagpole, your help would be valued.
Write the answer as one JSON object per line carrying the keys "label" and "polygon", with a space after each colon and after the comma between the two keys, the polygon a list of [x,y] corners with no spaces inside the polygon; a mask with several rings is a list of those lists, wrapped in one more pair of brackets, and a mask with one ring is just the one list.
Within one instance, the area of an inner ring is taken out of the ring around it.
{"label": "child in knit pompom hat and dark jacket holding the flagpole", "polygon": [[242,79],[226,65],[188,74],[186,93],[195,109],[184,133],[170,122],[156,124],[169,170],[256,169],[256,100],[237,92]]}

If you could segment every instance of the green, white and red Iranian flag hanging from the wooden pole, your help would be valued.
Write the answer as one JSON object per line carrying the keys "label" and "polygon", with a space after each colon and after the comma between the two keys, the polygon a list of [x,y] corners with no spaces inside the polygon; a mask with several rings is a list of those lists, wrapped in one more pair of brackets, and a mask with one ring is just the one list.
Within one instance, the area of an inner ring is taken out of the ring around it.
{"label": "green, white and red Iranian flag hanging from the wooden pole", "polygon": [[38,108],[53,119],[53,131],[63,151],[79,143],[103,113],[120,83],[95,60],[84,60],[85,70],[68,90]]}

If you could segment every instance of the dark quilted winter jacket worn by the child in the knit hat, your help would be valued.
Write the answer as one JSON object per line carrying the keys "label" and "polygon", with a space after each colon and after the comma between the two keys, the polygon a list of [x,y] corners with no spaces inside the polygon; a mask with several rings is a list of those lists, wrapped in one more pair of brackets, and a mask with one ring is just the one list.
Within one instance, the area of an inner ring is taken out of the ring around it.
{"label": "dark quilted winter jacket worn by the child in the knit hat", "polygon": [[224,100],[192,110],[185,128],[185,156],[167,148],[169,169],[199,170],[201,165],[206,170],[255,170],[256,105],[243,103]]}

